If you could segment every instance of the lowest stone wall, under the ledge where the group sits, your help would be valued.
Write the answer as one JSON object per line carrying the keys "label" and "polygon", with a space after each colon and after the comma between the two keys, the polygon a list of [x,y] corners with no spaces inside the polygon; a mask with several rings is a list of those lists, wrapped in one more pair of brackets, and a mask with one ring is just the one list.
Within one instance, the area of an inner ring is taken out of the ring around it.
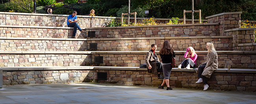
{"label": "lowest stone wall, under the ledge where the group sits", "polygon": [[[97,81],[97,72],[106,72],[109,82],[125,85],[159,86],[163,79],[147,71],[120,70],[49,70],[49,71],[3,71],[3,84],[47,84]],[[176,88],[203,89],[203,84],[195,84],[197,73],[172,71],[170,86]],[[255,73],[217,73],[208,80],[209,89],[224,91],[256,92]]]}

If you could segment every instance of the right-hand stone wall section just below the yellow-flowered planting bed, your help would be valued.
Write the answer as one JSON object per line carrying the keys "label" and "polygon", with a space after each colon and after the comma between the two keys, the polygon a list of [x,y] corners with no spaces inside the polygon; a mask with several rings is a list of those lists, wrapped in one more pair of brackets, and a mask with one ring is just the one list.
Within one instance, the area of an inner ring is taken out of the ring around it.
{"label": "right-hand stone wall section just below the yellow-flowered planting bed", "polygon": [[[136,27],[105,27],[86,28],[95,31],[92,38],[135,38],[135,37],[173,37],[173,36],[219,36],[217,25],[164,25],[164,26],[136,26]],[[86,32],[88,35],[88,32]],[[90,38],[90,37],[88,37]]]}

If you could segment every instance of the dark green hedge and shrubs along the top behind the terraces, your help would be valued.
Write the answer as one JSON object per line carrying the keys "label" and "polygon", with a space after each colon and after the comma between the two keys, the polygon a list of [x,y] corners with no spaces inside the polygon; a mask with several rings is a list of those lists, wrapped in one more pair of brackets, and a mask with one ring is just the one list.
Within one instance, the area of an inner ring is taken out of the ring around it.
{"label": "dark green hedge and shrubs along the top behind the terraces", "polygon": [[[32,3],[31,5],[33,5],[31,0],[24,1]],[[55,0],[46,1],[49,3]],[[52,8],[53,14],[65,15],[69,15],[72,11],[77,11],[78,15],[89,15],[91,9],[95,10],[96,16],[121,16],[120,13],[128,13],[128,0],[87,0],[87,3],[81,4],[74,3],[58,6],[55,4],[56,3],[46,5],[43,10],[46,11],[48,8]],[[131,0],[130,11],[136,11],[138,17],[145,17],[143,11],[149,10],[148,17],[183,18],[183,10],[191,10],[191,4],[191,0]],[[0,7],[1,12],[14,11],[31,13],[31,10],[24,10],[14,2],[0,4]],[[126,7],[126,9],[124,7]],[[31,6],[29,8],[32,9]],[[256,20],[256,0],[201,0],[201,3],[194,7],[194,10],[198,9],[202,10],[202,18],[223,12],[242,11],[241,20]],[[190,19],[191,13],[186,13],[186,18]],[[195,19],[198,19],[198,13],[195,13]]]}

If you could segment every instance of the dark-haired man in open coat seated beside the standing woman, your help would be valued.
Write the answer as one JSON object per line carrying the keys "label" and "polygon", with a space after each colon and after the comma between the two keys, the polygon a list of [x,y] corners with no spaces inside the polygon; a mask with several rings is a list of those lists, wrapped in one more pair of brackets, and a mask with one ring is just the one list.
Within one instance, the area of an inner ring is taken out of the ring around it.
{"label": "dark-haired man in open coat seated beside the standing woman", "polygon": [[156,55],[156,44],[151,45],[150,51],[148,51],[146,56],[146,64],[148,73],[158,73],[158,78],[163,78],[160,72],[163,72],[162,63],[160,62],[158,56]]}

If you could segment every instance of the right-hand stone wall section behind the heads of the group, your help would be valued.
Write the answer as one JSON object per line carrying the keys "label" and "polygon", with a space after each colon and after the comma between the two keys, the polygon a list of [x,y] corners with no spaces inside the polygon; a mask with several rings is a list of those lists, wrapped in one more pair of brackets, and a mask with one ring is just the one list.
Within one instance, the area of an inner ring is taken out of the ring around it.
{"label": "right-hand stone wall section behind the heads of the group", "polygon": [[230,51],[232,38],[178,38],[178,39],[142,39],[142,40],[96,40],[87,41],[88,50],[90,43],[97,43],[98,51],[148,51],[151,44],[158,44],[161,49],[163,42],[167,40],[175,51],[186,51],[191,46],[196,51],[205,51],[206,43],[212,42],[217,51]]}

